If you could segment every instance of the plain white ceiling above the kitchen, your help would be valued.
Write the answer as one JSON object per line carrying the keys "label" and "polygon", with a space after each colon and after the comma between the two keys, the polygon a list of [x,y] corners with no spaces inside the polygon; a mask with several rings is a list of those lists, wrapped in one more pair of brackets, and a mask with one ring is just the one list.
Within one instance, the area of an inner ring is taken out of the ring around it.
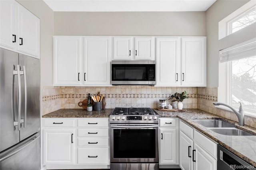
{"label": "plain white ceiling above the kitchen", "polygon": [[44,0],[53,11],[177,12],[206,11],[216,0]]}

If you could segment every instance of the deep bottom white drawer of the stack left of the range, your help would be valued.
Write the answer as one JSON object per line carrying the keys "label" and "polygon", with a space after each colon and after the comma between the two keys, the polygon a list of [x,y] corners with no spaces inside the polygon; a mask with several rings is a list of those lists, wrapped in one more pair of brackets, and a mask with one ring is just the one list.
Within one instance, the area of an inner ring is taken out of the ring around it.
{"label": "deep bottom white drawer of the stack left of the range", "polygon": [[78,148],[78,164],[109,164],[108,148]]}

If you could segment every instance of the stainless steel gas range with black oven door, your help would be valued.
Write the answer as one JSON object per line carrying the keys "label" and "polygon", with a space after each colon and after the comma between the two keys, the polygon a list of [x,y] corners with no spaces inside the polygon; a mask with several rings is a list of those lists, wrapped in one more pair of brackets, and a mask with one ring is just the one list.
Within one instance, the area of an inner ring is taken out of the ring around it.
{"label": "stainless steel gas range with black oven door", "polygon": [[158,170],[158,114],[116,107],[110,115],[110,169]]}

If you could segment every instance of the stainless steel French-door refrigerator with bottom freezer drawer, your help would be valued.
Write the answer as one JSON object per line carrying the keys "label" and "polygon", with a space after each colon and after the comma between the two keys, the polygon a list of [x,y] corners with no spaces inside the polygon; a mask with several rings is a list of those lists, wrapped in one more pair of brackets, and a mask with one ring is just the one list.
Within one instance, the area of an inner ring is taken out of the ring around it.
{"label": "stainless steel French-door refrigerator with bottom freezer drawer", "polygon": [[0,48],[0,170],[40,160],[40,60]]}

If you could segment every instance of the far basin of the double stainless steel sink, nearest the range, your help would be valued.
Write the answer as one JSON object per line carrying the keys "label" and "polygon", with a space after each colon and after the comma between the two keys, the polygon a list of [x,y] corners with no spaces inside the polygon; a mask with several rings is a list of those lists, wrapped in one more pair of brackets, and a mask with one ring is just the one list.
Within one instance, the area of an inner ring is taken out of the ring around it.
{"label": "far basin of the double stainless steel sink, nearest the range", "polygon": [[204,127],[235,127],[234,124],[216,119],[195,119],[193,121],[203,125]]}

